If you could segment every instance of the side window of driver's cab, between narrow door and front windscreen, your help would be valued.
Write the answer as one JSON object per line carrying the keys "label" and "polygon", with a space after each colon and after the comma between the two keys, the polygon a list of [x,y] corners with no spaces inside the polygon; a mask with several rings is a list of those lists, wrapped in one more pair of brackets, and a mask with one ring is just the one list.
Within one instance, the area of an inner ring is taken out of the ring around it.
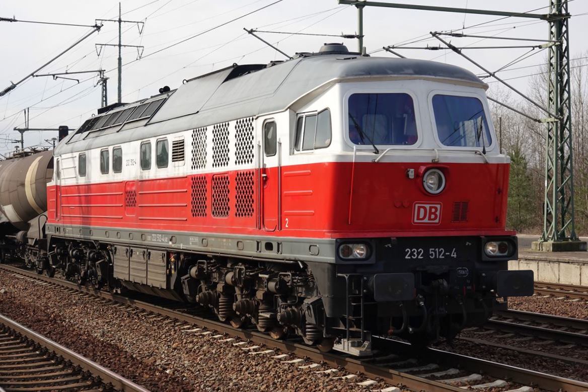
{"label": "side window of driver's cab, between narrow door and front windscreen", "polygon": [[309,151],[326,148],[332,136],[330,110],[324,109],[317,114],[301,115],[296,123],[294,149]]}

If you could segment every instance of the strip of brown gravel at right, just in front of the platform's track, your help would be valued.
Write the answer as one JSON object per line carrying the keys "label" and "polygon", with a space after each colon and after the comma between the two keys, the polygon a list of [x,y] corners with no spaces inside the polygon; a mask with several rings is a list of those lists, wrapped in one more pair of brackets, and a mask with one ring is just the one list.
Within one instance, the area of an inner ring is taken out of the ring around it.
{"label": "strip of brown gravel at right, just in front of the platform's track", "polygon": [[509,308],[588,320],[588,301],[585,300],[572,301],[562,297],[542,296],[510,297]]}

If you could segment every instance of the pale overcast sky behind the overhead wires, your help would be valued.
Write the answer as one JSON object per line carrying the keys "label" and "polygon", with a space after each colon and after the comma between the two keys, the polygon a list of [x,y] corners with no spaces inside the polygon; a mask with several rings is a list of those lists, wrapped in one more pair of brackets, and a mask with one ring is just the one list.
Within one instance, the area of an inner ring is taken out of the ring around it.
{"label": "pale overcast sky behind the overhead wires", "polygon": [[[122,26],[123,45],[142,45],[143,58],[138,58],[136,48],[123,48],[122,99],[133,102],[158,93],[164,85],[172,89],[183,79],[224,68],[232,63],[266,63],[284,59],[283,55],[269,48],[243,28],[281,32],[320,34],[353,34],[357,30],[357,11],[354,6],[338,5],[336,0],[123,0],[124,20],[144,21],[141,34],[136,24]],[[382,0],[383,1],[383,0]],[[502,11],[547,12],[548,0],[484,1],[484,0],[395,0],[405,4],[440,5]],[[210,32],[205,32],[183,43],[164,49],[173,43],[195,36],[215,26],[264,6],[267,8],[230,22]],[[543,8],[542,8],[543,7]],[[538,9],[540,8],[540,9]],[[570,19],[570,50],[572,57],[588,56],[588,0],[570,0],[569,11],[577,15]],[[118,18],[118,1],[45,1],[2,0],[0,17],[27,21],[63,22],[93,25],[95,19]],[[64,56],[38,73],[86,71],[105,69],[108,81],[108,102],[116,102],[118,49],[102,47],[96,53],[96,43],[118,43],[118,23],[103,22],[100,32],[94,33]],[[479,25],[482,24],[482,25]],[[479,26],[476,26],[479,25]],[[472,14],[453,14],[429,11],[413,11],[391,8],[366,8],[364,12],[364,45],[373,56],[392,56],[378,51],[385,45],[397,45],[417,39],[426,39],[409,46],[438,46],[430,31],[463,31],[473,35],[546,39],[547,22],[527,18],[506,18]],[[472,27],[473,26],[473,27]],[[31,73],[44,62],[72,45],[89,32],[89,28],[55,26],[28,23],[0,22],[2,37],[2,61],[0,62],[0,91]],[[264,39],[286,53],[318,51],[323,42],[345,42],[356,51],[356,39],[329,36],[282,35],[259,33]],[[506,41],[480,38],[453,38],[457,46],[520,46],[534,45],[529,41]],[[541,42],[537,42],[540,44]],[[161,52],[158,52],[162,50]],[[425,51],[396,49],[405,56],[430,59],[463,66],[482,74],[475,65],[451,51]],[[157,53],[155,53],[157,52]],[[151,54],[153,53],[153,54]],[[526,75],[540,72],[538,65],[546,61],[546,51],[531,48],[471,49],[466,54],[483,66],[495,71],[506,63],[528,53],[529,58],[512,66],[512,71],[502,73],[512,79],[517,88],[529,85]],[[523,56],[524,58],[524,56]],[[572,63],[573,65],[573,63]],[[14,149],[16,143],[7,139],[19,139],[15,126],[24,126],[22,110],[30,109],[31,128],[56,128],[80,125],[100,105],[101,89],[96,86],[97,75],[89,73],[71,76],[75,81],[50,77],[31,78],[14,91],[0,98],[0,153]],[[492,79],[486,79],[487,82]],[[497,83],[490,83],[491,89]],[[17,114],[15,114],[17,113]],[[27,132],[25,146],[47,143],[45,139],[56,132]]]}

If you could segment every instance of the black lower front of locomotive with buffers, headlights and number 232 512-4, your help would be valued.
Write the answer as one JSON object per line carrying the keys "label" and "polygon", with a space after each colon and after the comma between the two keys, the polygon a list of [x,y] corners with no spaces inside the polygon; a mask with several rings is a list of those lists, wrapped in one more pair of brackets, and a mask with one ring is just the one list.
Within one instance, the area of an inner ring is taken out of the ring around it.
{"label": "black lower front of locomotive with buffers, headlights and number 232 512-4", "polygon": [[500,297],[533,294],[531,270],[508,270],[515,236],[345,239],[336,246],[332,279],[318,286],[326,329],[337,337],[333,348],[355,355],[370,354],[371,336],[415,346],[453,339],[485,323]]}

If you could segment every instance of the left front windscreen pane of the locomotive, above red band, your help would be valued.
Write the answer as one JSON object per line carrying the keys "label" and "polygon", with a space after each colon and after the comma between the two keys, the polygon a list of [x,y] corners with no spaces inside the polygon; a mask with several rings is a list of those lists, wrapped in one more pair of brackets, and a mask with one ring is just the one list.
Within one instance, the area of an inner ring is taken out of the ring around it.
{"label": "left front windscreen pane of the locomotive, above red band", "polygon": [[356,145],[409,146],[417,141],[415,106],[406,93],[349,97],[349,140]]}

